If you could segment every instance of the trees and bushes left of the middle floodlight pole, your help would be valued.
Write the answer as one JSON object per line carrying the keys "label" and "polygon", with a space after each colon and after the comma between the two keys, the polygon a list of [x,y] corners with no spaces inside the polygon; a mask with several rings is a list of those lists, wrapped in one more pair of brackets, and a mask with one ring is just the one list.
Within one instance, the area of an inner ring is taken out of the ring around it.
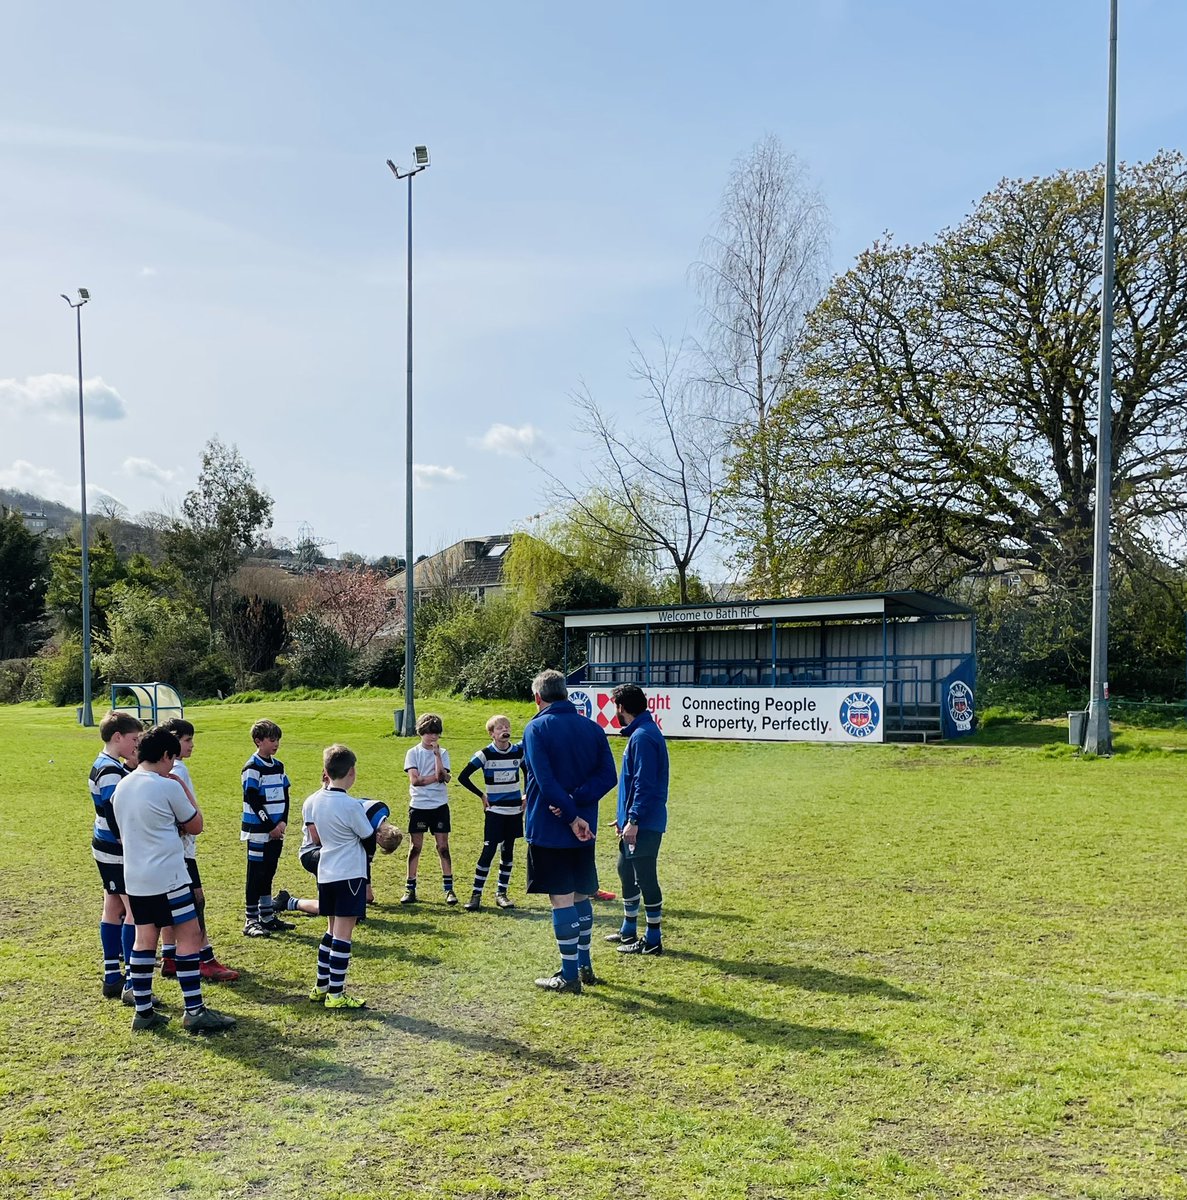
{"label": "trees and bushes left of the middle floodlight pole", "polygon": [[[154,679],[194,697],[398,682],[402,604],[386,587],[388,564],[348,556],[300,574],[251,565],[271,512],[238,449],[212,438],[178,514],[150,514],[145,527],[114,509],[91,518],[96,694]],[[136,539],[125,538],[130,528]],[[49,540],[18,511],[0,516],[0,702],[82,698],[80,596],[79,534]]]}

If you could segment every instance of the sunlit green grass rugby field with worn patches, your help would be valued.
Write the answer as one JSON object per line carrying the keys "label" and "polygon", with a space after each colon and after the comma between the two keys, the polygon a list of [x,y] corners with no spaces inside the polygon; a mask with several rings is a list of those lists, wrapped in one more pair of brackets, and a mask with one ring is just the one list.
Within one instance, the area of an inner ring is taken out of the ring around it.
{"label": "sunlit green grass rugby field with worn patches", "polygon": [[[927,749],[672,743],[664,958],[603,949],[599,905],[605,982],[540,994],[556,948],[522,862],[520,907],[469,914],[426,853],[407,912],[397,853],[350,968],[373,1008],[326,1013],[305,1000],[320,922],[240,936],[246,731],[280,721],[298,797],[348,742],[356,791],[402,812],[392,707],[188,714],[211,934],[244,971],[208,989],[240,1022],[210,1040],[133,1037],[100,998],[97,738],[72,710],[0,708],[0,1195],[1187,1198],[1182,732],[1123,730],[1108,761],[1044,725]],[[460,767],[488,706],[428,708]],[[307,889],[289,841],[277,882]]]}

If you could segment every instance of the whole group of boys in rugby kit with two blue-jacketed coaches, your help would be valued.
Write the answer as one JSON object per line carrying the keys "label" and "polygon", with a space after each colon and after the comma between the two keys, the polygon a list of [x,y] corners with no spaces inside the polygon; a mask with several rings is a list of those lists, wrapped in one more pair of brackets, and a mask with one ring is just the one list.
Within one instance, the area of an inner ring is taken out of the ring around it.
{"label": "whole group of boys in rugby kit with two blue-jacketed coaches", "polygon": [[[548,895],[562,958],[560,971],[536,979],[536,984],[551,991],[580,992],[582,984],[597,983],[589,958],[589,900],[598,890],[593,838],[598,802],[613,786],[617,773],[605,733],[583,719],[583,728],[564,720],[578,714],[563,688],[559,672],[536,677],[533,691],[539,712],[523,744],[512,744],[509,718],[492,716],[486,725],[491,743],[462,772],[458,782],[478,796],[484,808],[482,850],[464,907],[473,912],[481,906],[496,852],[496,904],[514,907],[508,894],[514,847],[527,832],[527,890]],[[624,685],[616,689],[613,698],[630,740],[618,780],[615,822],[623,923],[606,940],[617,942],[623,954],[658,955],[663,953],[663,896],[655,859],[666,826],[667,752],[641,689]],[[424,835],[432,833],[445,902],[456,905],[446,791],[451,773],[449,751],[440,745],[440,718],[426,714],[416,732],[420,740],[404,758],[410,847],[401,904],[418,902]],[[131,714],[112,712],[100,724],[100,734],[104,745],[91,768],[90,790],[95,803],[92,850],[104,888],[100,925],[103,994],[122,996],[136,1008],[133,1030],[164,1025],[168,1016],[152,995],[161,943],[162,974],[175,977],[181,985],[184,1027],[194,1033],[229,1028],[234,1018],[209,1009],[202,994],[203,979],[229,982],[238,972],[217,961],[206,937],[194,848],[203,818],[184,762],[193,750],[193,725],[179,718],[145,732]],[[300,859],[317,876],[317,900],[282,890],[274,901],[272,884],[289,816],[289,780],[276,757],[280,727],[257,721],[252,739],[256,751],[242,772],[240,838],[247,851],[244,934],[269,937],[293,929],[277,916],[276,905],[282,911],[325,917],[310,1000],[329,1009],[362,1008],[364,1001],[346,992],[354,928],[373,900],[370,877],[377,844],[390,852],[402,835],[388,821],[386,805],[349,794],[356,779],[354,752],[343,745],[329,746],[323,755],[322,788],[305,802],[301,814]],[[482,788],[470,781],[479,772]],[[642,937],[637,931],[641,901],[647,912]]]}

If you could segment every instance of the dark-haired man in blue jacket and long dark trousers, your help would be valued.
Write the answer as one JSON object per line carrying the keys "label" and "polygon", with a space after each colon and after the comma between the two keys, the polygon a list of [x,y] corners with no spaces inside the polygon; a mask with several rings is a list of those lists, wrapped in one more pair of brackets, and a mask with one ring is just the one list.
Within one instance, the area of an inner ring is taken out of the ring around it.
{"label": "dark-haired man in blue jacket and long dark trousers", "polygon": [[[618,780],[618,878],[623,881],[623,924],[607,942],[619,954],[663,954],[664,894],[655,874],[667,828],[667,743],[647,708],[642,688],[621,684],[611,692],[618,724],[630,739]],[[647,935],[639,936],[639,901],[647,910]]]}

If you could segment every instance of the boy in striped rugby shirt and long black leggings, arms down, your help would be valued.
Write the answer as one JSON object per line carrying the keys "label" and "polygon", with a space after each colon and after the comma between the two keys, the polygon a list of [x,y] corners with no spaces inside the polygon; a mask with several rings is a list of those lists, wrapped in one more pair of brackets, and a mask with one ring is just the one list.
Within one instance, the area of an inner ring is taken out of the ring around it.
{"label": "boy in striped rugby shirt and long black leggings, arms down", "polygon": [[247,920],[245,937],[268,937],[277,930],[293,929],[272,910],[272,881],[284,848],[288,824],[288,775],[276,757],[281,727],[275,721],[257,721],[251,727],[256,752],[244,767],[244,817],[240,841],[247,842]]}

